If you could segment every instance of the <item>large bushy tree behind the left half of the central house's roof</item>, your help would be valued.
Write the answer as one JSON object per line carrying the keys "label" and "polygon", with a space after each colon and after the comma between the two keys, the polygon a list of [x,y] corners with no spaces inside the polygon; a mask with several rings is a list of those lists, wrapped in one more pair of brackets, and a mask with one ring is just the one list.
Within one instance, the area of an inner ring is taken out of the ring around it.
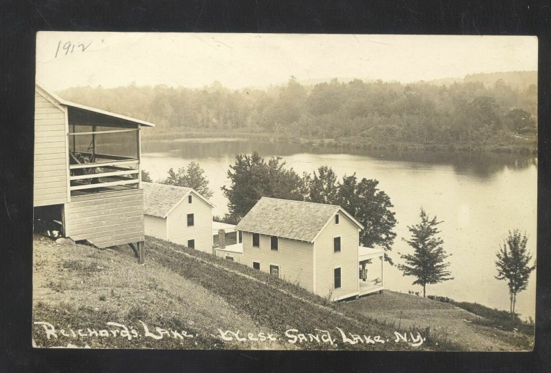
{"label": "large bushy tree behind the left half of the central house's roof", "polygon": [[262,196],[304,201],[304,182],[292,168],[284,168],[281,159],[273,157],[266,162],[257,152],[236,156],[228,171],[231,185],[222,187],[229,201],[228,219],[239,221]]}

